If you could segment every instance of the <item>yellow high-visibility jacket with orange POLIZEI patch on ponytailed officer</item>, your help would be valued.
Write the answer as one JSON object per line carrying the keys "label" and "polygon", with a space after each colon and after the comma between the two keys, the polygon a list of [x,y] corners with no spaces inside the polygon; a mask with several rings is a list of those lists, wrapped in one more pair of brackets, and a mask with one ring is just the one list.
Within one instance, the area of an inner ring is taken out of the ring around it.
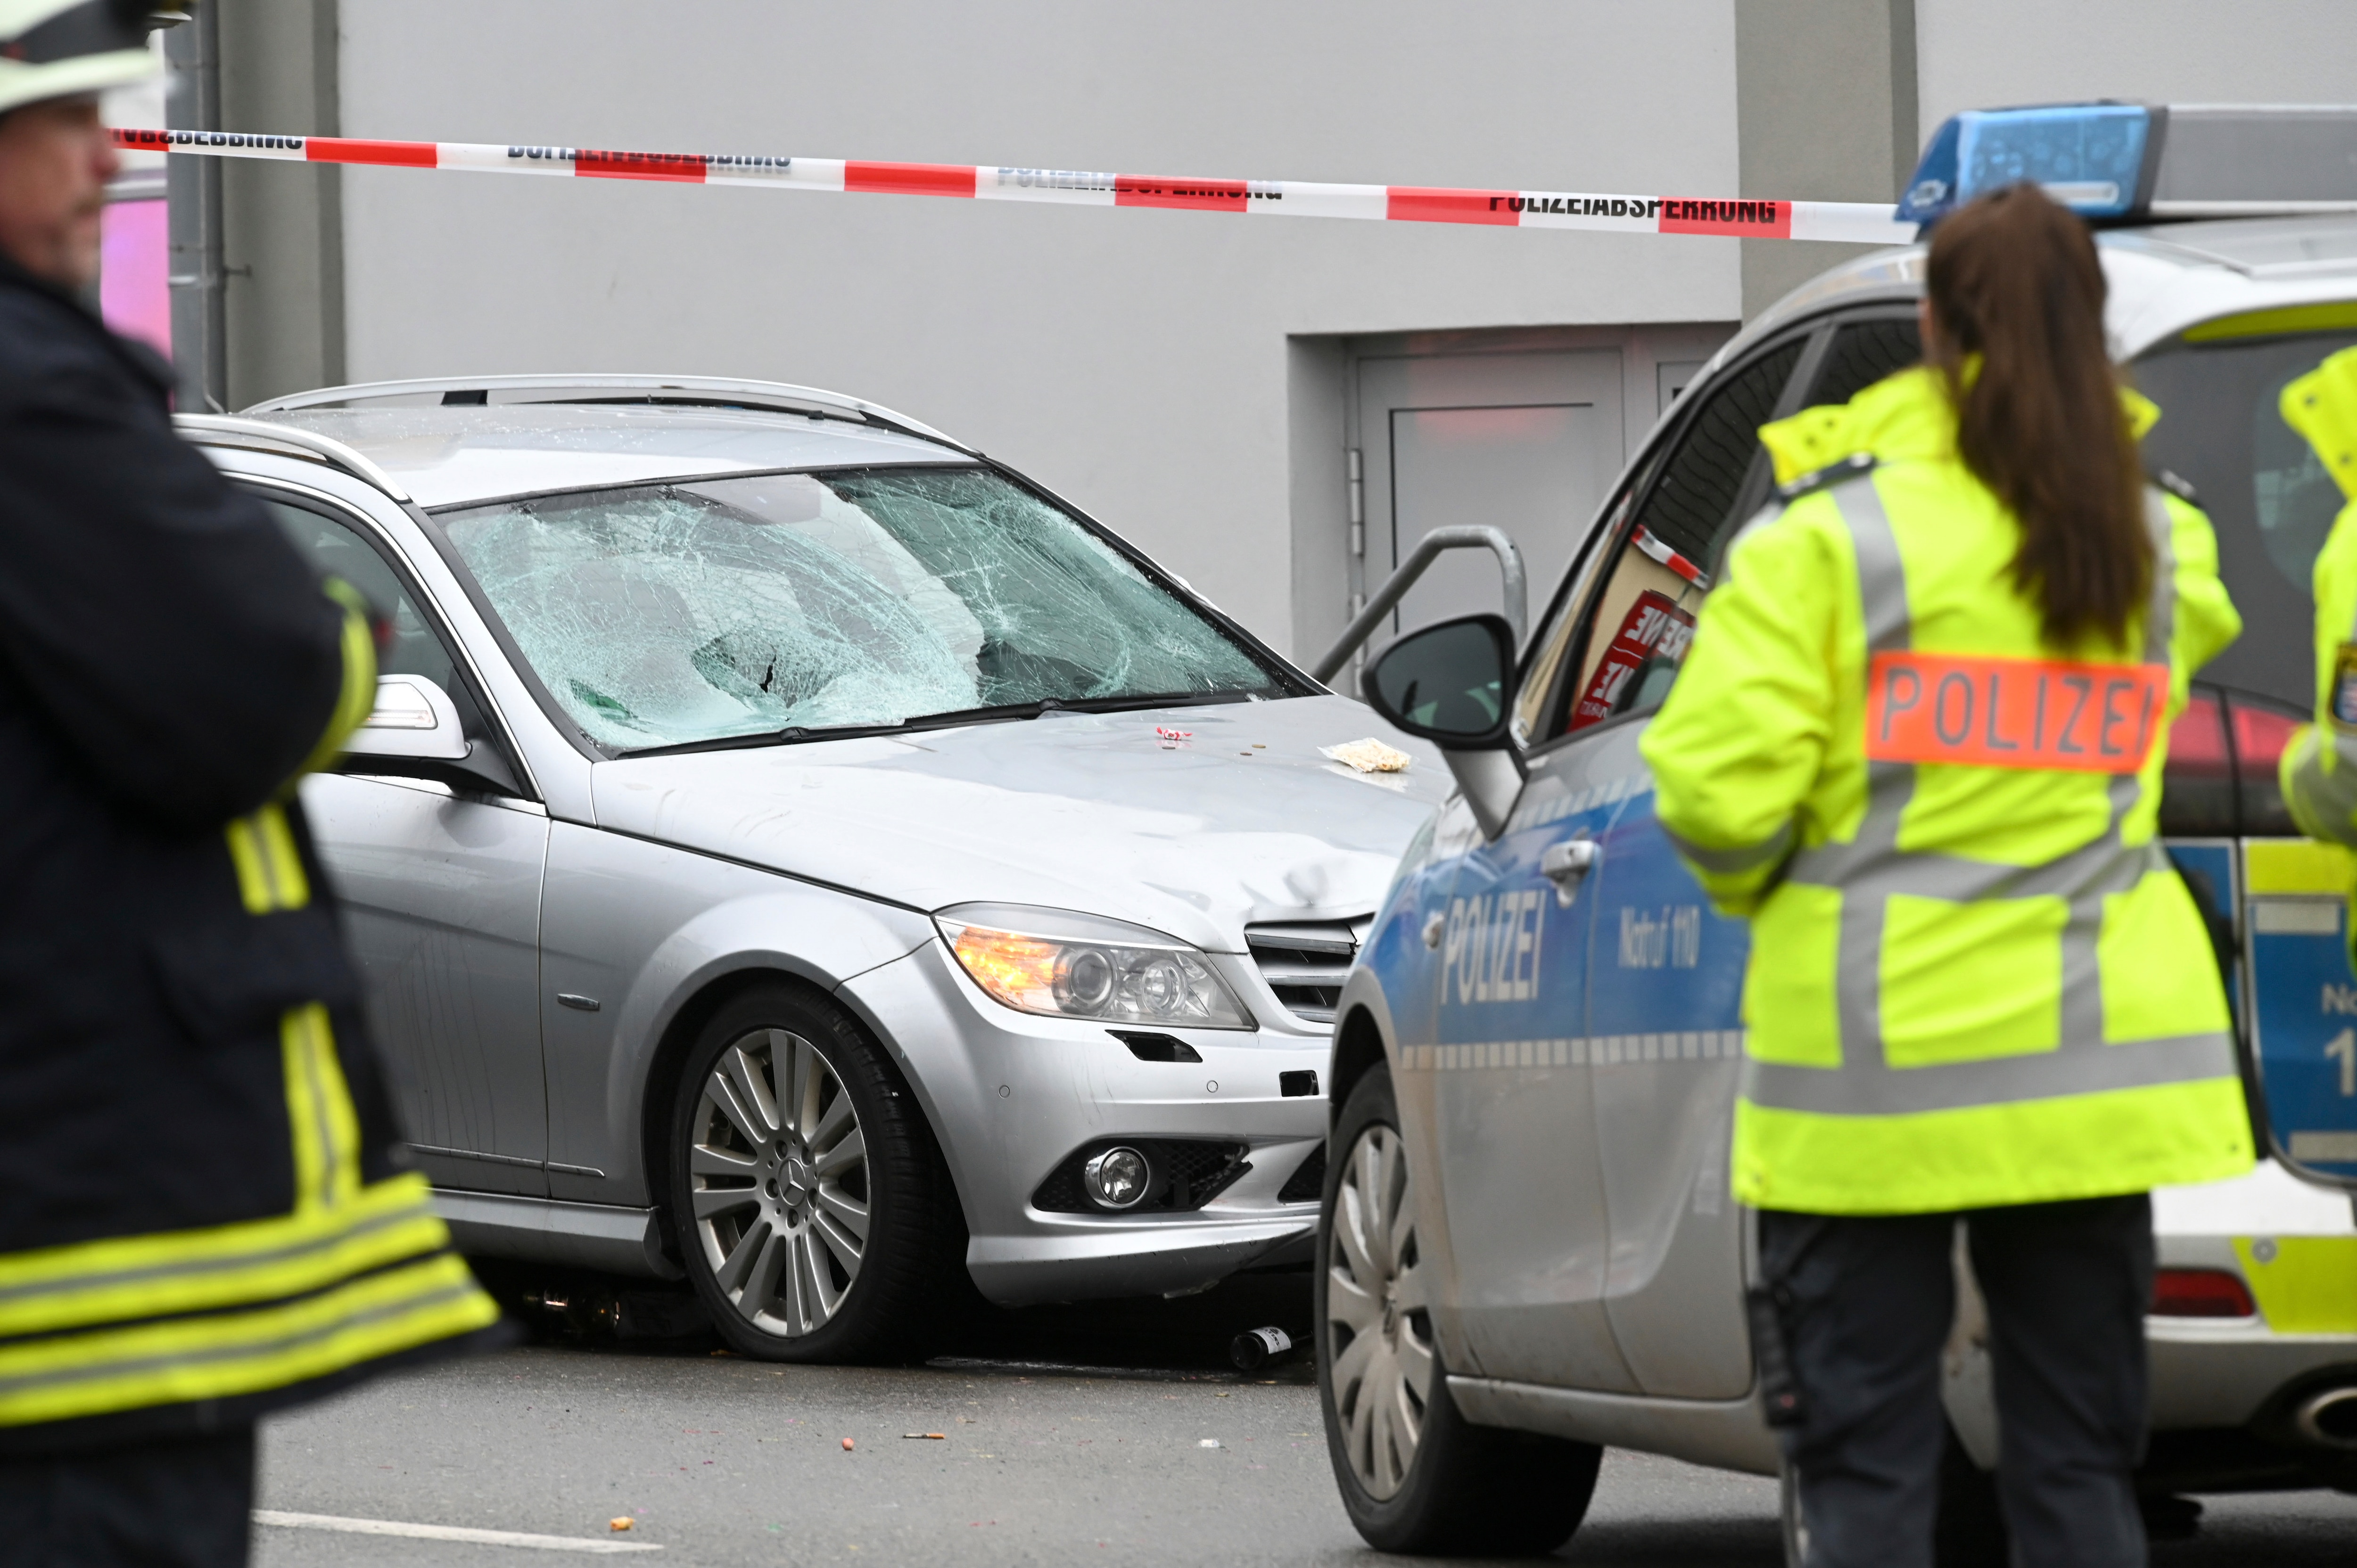
{"label": "yellow high-visibility jacket with orange POLIZEI patch on ponytailed officer", "polygon": [[1737,538],[1643,740],[1662,825],[1751,917],[1756,1207],[2093,1198],[2253,1158],[2218,967],[2154,844],[2185,677],[2242,630],[2209,521],[2152,490],[2152,606],[2126,646],[2053,651],[1954,424],[1916,368],[1761,431],[1787,505]]}

